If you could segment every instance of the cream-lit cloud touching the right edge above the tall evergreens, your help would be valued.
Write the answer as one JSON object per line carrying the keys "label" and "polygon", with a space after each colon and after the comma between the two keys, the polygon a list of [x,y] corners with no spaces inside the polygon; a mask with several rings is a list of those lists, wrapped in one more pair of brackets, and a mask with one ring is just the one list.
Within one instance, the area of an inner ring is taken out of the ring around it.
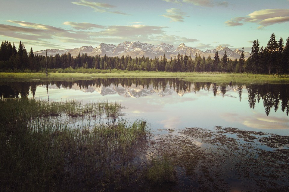
{"label": "cream-lit cloud touching the right edge above the tall evergreens", "polygon": [[289,9],[262,9],[250,13],[247,17],[235,17],[225,23],[228,26],[240,26],[245,22],[258,23],[258,29],[266,26],[274,25],[276,23],[283,23],[289,21]]}

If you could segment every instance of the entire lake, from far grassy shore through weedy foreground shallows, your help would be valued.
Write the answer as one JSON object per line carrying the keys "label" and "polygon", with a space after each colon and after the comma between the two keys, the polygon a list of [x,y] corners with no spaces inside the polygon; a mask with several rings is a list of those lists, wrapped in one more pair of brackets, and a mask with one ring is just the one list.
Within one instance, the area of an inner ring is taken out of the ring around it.
{"label": "entire lake, from far grassy shore through weedy foreground shallows", "polygon": [[[123,115],[118,119],[144,119],[151,132],[137,144],[133,165],[139,171],[152,157],[169,156],[177,182],[143,186],[140,191],[289,190],[289,84],[178,78],[33,80],[0,82],[0,95],[49,102],[119,102]],[[91,121],[92,116],[43,117],[47,119],[99,123]],[[133,184],[126,187],[135,190]]]}

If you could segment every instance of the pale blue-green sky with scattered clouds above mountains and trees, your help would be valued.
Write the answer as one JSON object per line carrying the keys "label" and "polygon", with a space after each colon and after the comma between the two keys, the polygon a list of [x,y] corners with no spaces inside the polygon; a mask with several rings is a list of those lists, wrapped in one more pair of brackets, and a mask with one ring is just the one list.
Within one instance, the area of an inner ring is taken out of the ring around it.
{"label": "pale blue-green sky with scattered clouds above mountains and trees", "polygon": [[0,42],[33,51],[140,41],[250,52],[272,33],[286,42],[289,0],[0,1]]}

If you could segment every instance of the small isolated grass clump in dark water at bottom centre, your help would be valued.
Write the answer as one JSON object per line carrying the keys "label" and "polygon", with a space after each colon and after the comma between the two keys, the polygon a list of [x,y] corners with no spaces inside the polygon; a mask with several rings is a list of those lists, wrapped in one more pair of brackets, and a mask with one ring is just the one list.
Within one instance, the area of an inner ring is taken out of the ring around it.
{"label": "small isolated grass clump in dark water at bottom centre", "polygon": [[172,160],[167,156],[152,157],[145,175],[154,185],[176,182]]}

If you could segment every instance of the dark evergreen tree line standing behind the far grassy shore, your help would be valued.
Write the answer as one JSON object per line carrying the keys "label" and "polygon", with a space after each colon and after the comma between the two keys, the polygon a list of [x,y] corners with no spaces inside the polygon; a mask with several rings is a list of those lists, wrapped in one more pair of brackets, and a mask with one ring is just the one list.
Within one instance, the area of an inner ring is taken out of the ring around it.
{"label": "dark evergreen tree line standing behind the far grassy shore", "polygon": [[183,55],[178,53],[174,58],[166,55],[149,58],[122,56],[110,57],[107,55],[91,56],[87,53],[73,57],[70,52],[58,53],[55,56],[35,55],[31,47],[28,53],[24,44],[19,42],[18,50],[9,41],[2,42],[0,46],[0,70],[33,70],[40,71],[45,68],[96,68],[119,70],[144,70],[144,71],[169,71],[169,72],[236,72],[236,73],[288,73],[289,68],[289,37],[284,46],[282,38],[277,42],[274,33],[271,35],[267,46],[259,47],[259,41],[254,40],[250,56],[244,57],[244,47],[239,59],[229,59],[227,52],[222,57],[216,51],[214,58],[205,58],[200,55]]}

